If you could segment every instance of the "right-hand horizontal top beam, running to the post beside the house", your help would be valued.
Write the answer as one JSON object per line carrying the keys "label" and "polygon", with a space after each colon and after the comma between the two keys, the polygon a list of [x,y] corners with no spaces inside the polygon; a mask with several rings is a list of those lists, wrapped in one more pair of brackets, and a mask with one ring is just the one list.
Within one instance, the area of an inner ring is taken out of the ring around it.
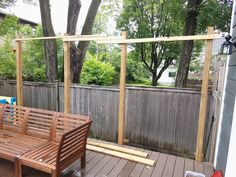
{"label": "right-hand horizontal top beam, running to the post beside the house", "polygon": [[158,38],[140,38],[140,39],[114,39],[114,40],[97,40],[98,44],[125,44],[125,43],[145,43],[145,42],[174,42],[174,41],[189,41],[189,40],[210,40],[220,39],[222,35],[194,35],[194,36],[172,36],[172,37],[158,37]]}

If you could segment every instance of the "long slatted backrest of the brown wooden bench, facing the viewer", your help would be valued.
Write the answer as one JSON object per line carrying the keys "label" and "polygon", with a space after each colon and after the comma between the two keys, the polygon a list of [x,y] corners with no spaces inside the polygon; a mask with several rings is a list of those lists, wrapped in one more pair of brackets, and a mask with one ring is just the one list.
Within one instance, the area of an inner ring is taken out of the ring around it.
{"label": "long slatted backrest of the brown wooden bench, facing the viewer", "polygon": [[89,117],[29,107],[0,105],[0,128],[60,141],[62,134],[86,123]]}

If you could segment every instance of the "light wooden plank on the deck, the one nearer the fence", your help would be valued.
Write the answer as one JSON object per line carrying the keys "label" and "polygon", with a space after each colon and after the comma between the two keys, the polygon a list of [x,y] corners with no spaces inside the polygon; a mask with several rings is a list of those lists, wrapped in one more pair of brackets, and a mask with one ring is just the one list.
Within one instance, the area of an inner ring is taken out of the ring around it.
{"label": "light wooden plank on the deck, the one nearer the fence", "polygon": [[137,150],[130,149],[130,148],[125,148],[125,147],[121,147],[118,145],[95,142],[95,141],[91,141],[91,140],[88,140],[87,144],[92,145],[92,146],[98,146],[98,147],[114,150],[114,151],[123,152],[126,154],[131,154],[131,155],[135,155],[135,156],[139,156],[139,157],[147,157],[148,156],[148,153],[146,153],[146,152],[137,151]]}

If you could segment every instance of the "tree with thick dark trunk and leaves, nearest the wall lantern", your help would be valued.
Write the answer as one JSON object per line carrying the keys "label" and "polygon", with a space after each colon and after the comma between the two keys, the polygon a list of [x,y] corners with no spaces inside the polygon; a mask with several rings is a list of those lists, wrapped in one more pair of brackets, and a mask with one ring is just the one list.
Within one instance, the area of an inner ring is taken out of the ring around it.
{"label": "tree with thick dark trunk and leaves, nearest the wall lantern", "polygon": [[[204,33],[208,26],[220,31],[229,31],[232,0],[188,0],[185,8],[185,28],[183,35]],[[176,77],[177,87],[186,87],[193,41],[184,41]]]}

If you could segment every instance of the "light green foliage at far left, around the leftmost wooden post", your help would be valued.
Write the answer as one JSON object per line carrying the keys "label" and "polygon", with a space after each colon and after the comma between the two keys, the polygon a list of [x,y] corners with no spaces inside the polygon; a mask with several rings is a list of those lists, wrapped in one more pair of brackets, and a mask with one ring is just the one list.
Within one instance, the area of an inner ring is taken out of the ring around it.
{"label": "light green foliage at far left, around the leftmost wooden post", "polygon": [[[5,79],[16,77],[16,55],[14,39],[17,33],[24,37],[42,36],[42,27],[32,29],[29,25],[20,25],[18,19],[7,16],[0,22],[0,34],[3,44],[0,46],[0,76]],[[23,79],[30,81],[45,81],[45,60],[41,41],[28,41],[23,45]]]}

